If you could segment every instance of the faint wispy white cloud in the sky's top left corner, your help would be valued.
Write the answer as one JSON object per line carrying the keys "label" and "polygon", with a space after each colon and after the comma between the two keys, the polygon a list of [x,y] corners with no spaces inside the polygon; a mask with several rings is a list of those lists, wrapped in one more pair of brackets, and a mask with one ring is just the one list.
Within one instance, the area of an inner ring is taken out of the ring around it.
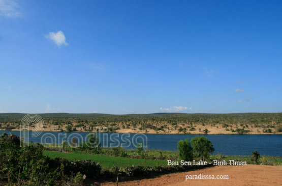
{"label": "faint wispy white cloud in the sky's top left corner", "polygon": [[0,0],[0,16],[18,17],[21,16],[18,4],[13,0]]}

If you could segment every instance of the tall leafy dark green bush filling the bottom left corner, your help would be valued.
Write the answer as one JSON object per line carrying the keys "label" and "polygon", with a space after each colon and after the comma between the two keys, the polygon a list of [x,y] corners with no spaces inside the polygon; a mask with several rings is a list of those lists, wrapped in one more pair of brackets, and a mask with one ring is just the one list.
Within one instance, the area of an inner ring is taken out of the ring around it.
{"label": "tall leafy dark green bush filling the bottom left corner", "polygon": [[16,135],[0,137],[0,157],[0,177],[11,182],[29,180],[30,184],[43,184],[56,177],[56,173],[48,171],[49,158],[43,155],[43,146],[21,148]]}

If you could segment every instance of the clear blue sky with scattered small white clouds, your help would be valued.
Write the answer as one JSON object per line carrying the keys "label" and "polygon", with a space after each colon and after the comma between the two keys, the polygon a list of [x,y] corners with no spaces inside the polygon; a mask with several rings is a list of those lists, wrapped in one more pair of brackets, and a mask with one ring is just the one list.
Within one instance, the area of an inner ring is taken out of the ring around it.
{"label": "clear blue sky with scattered small white clouds", "polygon": [[0,0],[0,113],[282,112],[281,10]]}

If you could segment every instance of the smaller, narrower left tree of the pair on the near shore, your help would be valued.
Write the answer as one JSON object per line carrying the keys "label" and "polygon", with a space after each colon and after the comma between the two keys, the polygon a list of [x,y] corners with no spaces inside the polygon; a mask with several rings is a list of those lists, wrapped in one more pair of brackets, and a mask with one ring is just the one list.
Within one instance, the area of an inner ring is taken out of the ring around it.
{"label": "smaller, narrower left tree of the pair on the near shore", "polygon": [[181,158],[181,160],[192,161],[193,148],[191,147],[189,139],[185,139],[184,141],[180,140],[179,142],[177,142],[177,145],[179,157]]}

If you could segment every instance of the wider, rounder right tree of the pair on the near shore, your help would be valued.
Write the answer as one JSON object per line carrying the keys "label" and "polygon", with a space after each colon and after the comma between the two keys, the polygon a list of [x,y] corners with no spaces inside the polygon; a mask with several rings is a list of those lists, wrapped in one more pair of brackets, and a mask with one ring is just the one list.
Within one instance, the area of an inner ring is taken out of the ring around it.
{"label": "wider, rounder right tree of the pair on the near shore", "polygon": [[200,157],[202,160],[209,157],[209,154],[214,151],[211,141],[206,137],[197,136],[191,139],[194,157]]}

